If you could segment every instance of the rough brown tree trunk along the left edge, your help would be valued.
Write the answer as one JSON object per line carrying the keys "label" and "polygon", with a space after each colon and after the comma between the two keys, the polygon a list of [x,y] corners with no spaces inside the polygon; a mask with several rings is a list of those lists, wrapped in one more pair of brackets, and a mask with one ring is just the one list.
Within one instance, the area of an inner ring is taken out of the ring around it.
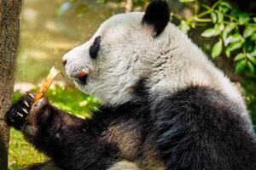
{"label": "rough brown tree trunk along the left edge", "polygon": [[8,168],[9,127],[4,114],[11,105],[20,34],[21,0],[0,0],[0,169]]}

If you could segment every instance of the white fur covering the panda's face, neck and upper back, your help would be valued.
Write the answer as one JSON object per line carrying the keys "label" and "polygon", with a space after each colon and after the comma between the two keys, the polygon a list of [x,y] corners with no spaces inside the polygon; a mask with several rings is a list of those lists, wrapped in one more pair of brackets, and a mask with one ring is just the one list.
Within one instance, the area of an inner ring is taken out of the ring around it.
{"label": "white fur covering the panda's face, neck and upper back", "polygon": [[[96,95],[103,105],[120,105],[132,99],[132,87],[141,77],[148,77],[153,99],[191,85],[206,86],[240,105],[241,116],[250,124],[241,94],[200,48],[171,23],[154,38],[142,18],[138,12],[114,15],[88,42],[65,54],[67,75],[90,69],[88,84],[77,83],[79,89]],[[97,36],[102,36],[100,53],[90,59],[89,48]]]}

